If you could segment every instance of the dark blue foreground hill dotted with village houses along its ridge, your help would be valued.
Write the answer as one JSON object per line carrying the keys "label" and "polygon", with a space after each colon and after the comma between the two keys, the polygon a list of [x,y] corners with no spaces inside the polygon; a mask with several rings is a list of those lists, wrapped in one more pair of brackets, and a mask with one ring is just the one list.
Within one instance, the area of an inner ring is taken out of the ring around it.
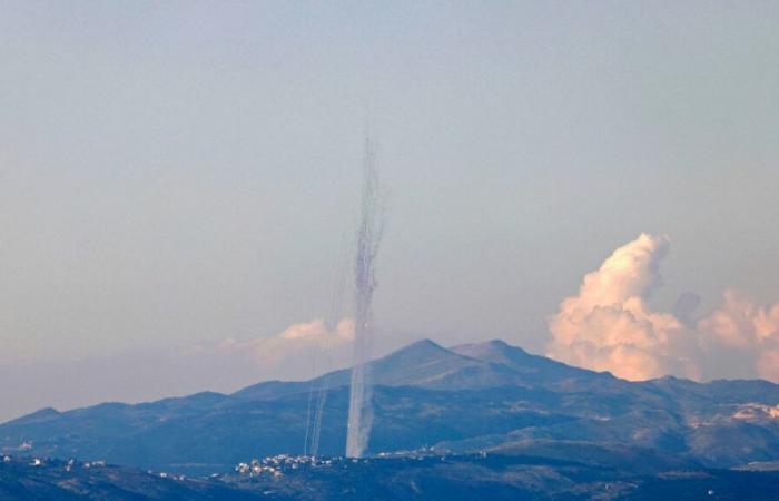
{"label": "dark blue foreground hill dotted with village houses along its ridge", "polygon": [[779,499],[777,472],[678,469],[637,474],[628,465],[483,453],[315,464],[277,460],[264,471],[265,463],[257,462],[258,473],[189,479],[102,463],[10,459],[0,463],[0,501]]}

